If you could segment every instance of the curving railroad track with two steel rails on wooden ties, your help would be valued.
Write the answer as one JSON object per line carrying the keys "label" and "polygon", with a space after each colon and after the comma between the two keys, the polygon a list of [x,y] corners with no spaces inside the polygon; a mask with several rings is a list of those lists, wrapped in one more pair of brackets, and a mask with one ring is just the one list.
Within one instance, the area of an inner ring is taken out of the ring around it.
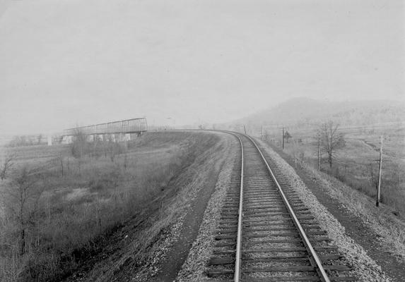
{"label": "curving railroad track with two steel rails on wooden ties", "polygon": [[221,281],[356,281],[339,262],[282,171],[275,171],[254,140],[240,142],[207,275]]}

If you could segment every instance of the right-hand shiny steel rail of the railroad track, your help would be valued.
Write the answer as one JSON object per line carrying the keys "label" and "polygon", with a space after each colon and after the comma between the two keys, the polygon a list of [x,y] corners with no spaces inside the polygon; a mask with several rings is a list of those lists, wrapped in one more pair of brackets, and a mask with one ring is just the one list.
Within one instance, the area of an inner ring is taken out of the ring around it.
{"label": "right-hand shiny steel rail of the railroad track", "polygon": [[305,247],[307,247],[308,252],[310,252],[310,255],[312,255],[312,257],[315,259],[315,264],[316,264],[317,268],[319,269],[321,280],[323,282],[330,282],[330,279],[329,279],[326,271],[324,270],[324,267],[322,266],[321,260],[319,259],[317,253],[315,252],[314,247],[312,247],[312,244],[310,243],[310,240],[308,240],[307,235],[305,234],[305,231],[303,229],[303,226],[301,226],[300,221],[298,221],[298,218],[295,215],[295,212],[293,211],[293,208],[290,206],[290,203],[288,202],[286,195],[284,194],[283,190],[281,189],[280,184],[278,184],[276,176],[274,176],[273,171],[271,171],[269,163],[266,161],[266,158],[262,154],[262,151],[259,149],[259,146],[257,146],[256,142],[254,142],[252,137],[250,137],[248,135],[244,135],[244,136],[246,136],[253,143],[253,145],[256,147],[257,151],[259,152],[260,156],[262,156],[264,164],[266,164],[266,167],[269,170],[271,178],[273,178],[274,183],[276,183],[276,186],[278,188],[278,192],[280,192],[281,197],[283,199],[283,202],[286,204],[286,206],[288,208],[288,212],[291,215],[291,217],[293,218],[294,225],[298,228],[298,232],[300,233],[300,236],[304,241]]}

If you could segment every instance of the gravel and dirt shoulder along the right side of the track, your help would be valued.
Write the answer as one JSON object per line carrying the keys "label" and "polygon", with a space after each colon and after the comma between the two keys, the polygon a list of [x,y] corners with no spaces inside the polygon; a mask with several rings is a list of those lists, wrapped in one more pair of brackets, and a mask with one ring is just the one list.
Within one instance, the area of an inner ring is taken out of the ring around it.
{"label": "gravel and dirt shoulder along the right side of the track", "polygon": [[[342,197],[342,191],[352,191],[351,188],[305,165],[296,165],[278,148],[261,141],[259,144],[276,160],[278,168],[287,173],[290,185],[298,190],[303,202],[353,266],[359,281],[405,281],[405,264],[399,256],[402,245],[392,240],[396,232],[399,236],[401,233],[387,228],[388,222],[401,228],[398,220],[386,211],[380,212],[377,218],[372,216],[367,210],[369,199],[364,195],[356,191]],[[355,198],[360,207],[354,207],[356,204],[348,198]],[[385,225],[378,221],[385,221]]]}

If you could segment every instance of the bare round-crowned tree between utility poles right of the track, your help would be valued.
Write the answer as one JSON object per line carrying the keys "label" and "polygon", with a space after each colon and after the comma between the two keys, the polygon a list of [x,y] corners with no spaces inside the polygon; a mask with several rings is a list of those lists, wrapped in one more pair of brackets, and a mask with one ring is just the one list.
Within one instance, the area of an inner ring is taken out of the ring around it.
{"label": "bare round-crowned tree between utility poles right of the track", "polygon": [[322,123],[320,127],[321,134],[321,150],[327,154],[329,167],[332,167],[332,161],[336,155],[336,151],[346,145],[343,133],[339,133],[339,123],[328,121]]}

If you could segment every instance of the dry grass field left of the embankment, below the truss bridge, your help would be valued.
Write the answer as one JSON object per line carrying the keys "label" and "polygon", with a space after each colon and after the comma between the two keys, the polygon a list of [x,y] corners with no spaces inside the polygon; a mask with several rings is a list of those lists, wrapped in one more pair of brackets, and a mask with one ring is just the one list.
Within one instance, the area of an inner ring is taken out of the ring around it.
{"label": "dry grass field left of the embankment, below the truss bridge", "polygon": [[[187,167],[221,149],[218,136],[202,134],[146,133],[104,151],[86,145],[81,157],[73,157],[69,145],[4,152],[16,157],[0,183],[0,281],[59,281],[69,275],[125,221],[159,207],[156,199]],[[170,224],[173,215],[164,214],[164,221],[148,224],[137,252]]]}

